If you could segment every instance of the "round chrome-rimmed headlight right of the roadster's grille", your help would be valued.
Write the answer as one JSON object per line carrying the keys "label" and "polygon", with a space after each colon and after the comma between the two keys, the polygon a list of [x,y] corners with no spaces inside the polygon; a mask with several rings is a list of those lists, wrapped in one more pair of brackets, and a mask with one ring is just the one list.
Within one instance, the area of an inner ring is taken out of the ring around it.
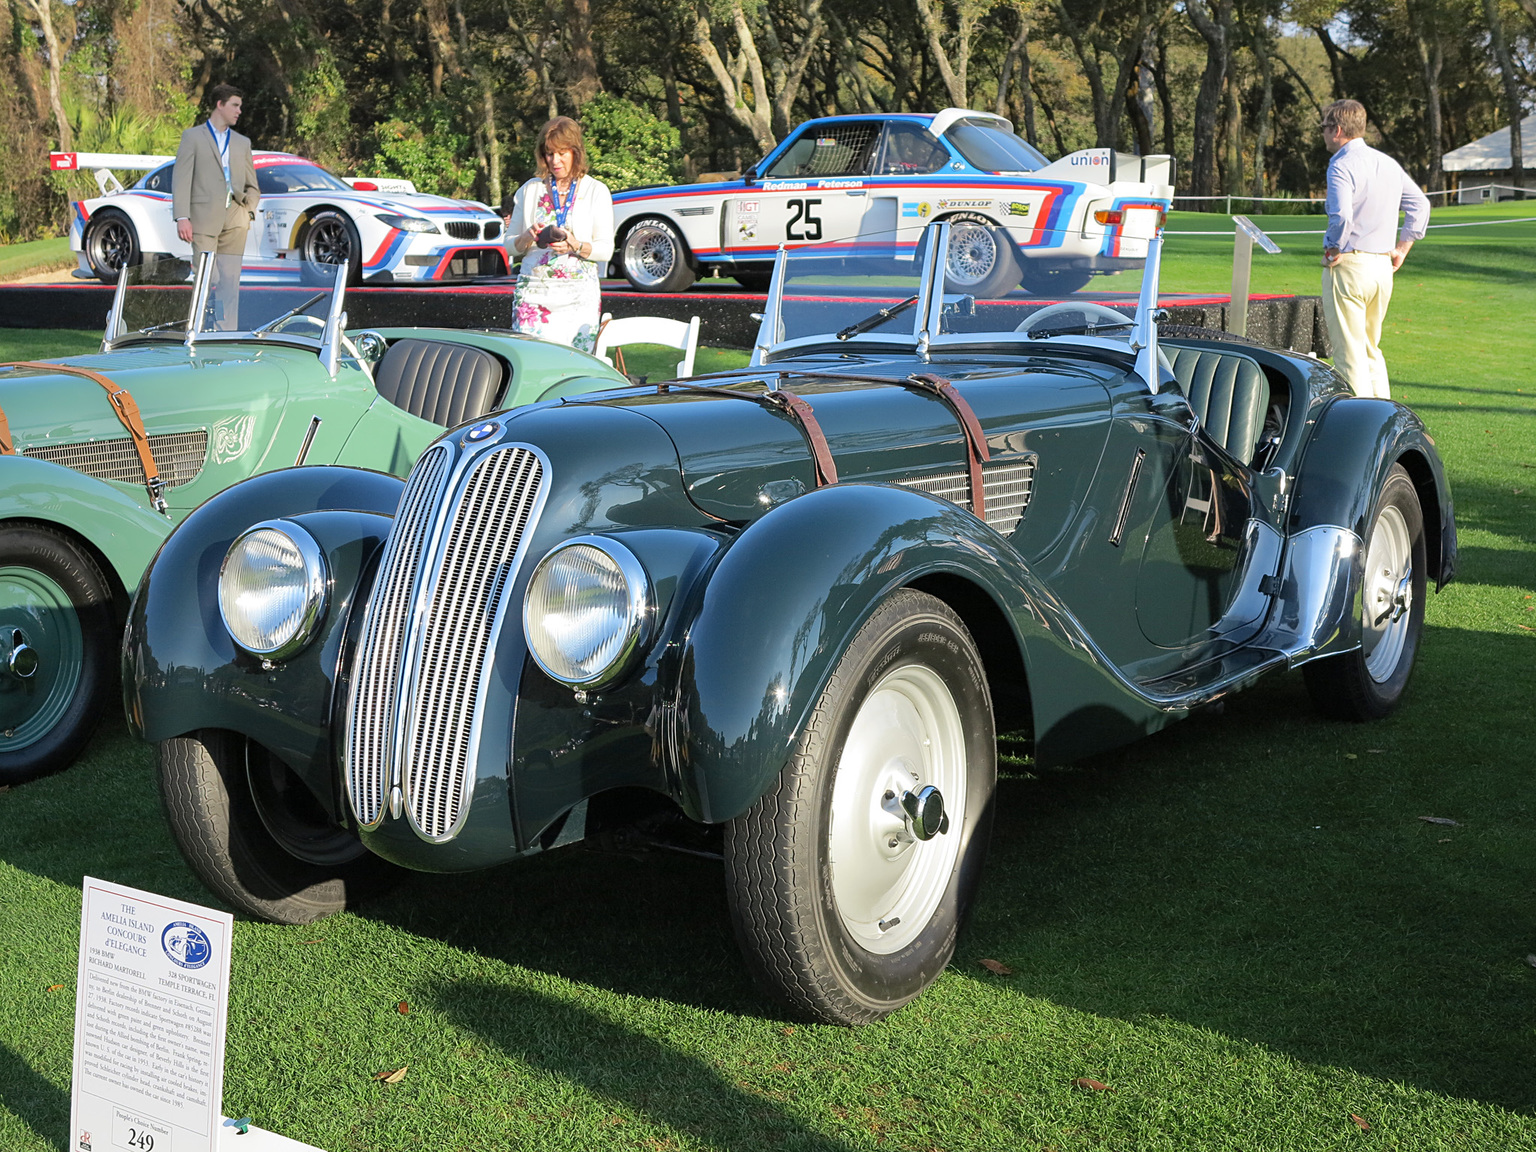
{"label": "round chrome-rimmed headlight right of the roadster's grille", "polygon": [[651,582],[634,553],[579,536],[533,570],[522,631],[533,659],[556,680],[596,685],[624,671],[651,616]]}

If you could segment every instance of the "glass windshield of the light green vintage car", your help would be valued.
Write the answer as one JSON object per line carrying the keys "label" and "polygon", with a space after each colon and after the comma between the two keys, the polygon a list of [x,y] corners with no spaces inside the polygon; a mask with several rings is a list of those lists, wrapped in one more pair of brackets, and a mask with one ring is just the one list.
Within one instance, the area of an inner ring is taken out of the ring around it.
{"label": "glass windshield of the light green vintage car", "polygon": [[200,278],[186,260],[144,258],[123,270],[108,343],[230,336],[323,339],[346,267],[215,257]]}

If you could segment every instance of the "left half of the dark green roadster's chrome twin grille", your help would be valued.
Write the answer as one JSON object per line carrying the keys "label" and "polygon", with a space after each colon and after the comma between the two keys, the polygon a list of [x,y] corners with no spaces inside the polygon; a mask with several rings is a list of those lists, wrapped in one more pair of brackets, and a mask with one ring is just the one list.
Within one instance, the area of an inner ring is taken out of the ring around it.
{"label": "left half of the dark green roadster's chrome twin grille", "polygon": [[384,816],[406,625],[419,582],[422,548],[447,479],[449,450],[429,450],[401,495],[395,530],[369,596],[347,717],[347,790],[352,811],[362,825],[378,823]]}

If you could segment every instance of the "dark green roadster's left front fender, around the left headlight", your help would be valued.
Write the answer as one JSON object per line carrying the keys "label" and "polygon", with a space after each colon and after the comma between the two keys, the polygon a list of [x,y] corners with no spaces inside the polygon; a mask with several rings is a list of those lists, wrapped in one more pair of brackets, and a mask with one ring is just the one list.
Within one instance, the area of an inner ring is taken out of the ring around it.
{"label": "dark green roadster's left front fender, around the left headlight", "polygon": [[[361,468],[284,468],[226,488],[187,516],[144,573],[123,636],[123,694],[135,734],[158,742],[197,728],[243,733],[329,805],[338,648],[402,488],[395,476]],[[263,668],[224,628],[218,571],[240,533],[273,518],[295,519],[319,542],[330,565],[330,604],[303,651]]]}

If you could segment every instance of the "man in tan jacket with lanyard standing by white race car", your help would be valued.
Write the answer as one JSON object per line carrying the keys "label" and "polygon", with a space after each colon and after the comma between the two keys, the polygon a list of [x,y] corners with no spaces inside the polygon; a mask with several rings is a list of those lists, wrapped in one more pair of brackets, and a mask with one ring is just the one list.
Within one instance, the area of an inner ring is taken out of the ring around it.
{"label": "man in tan jacket with lanyard standing by white race car", "polygon": [[181,134],[170,210],[177,235],[192,246],[194,266],[204,252],[215,253],[209,300],[214,326],[229,332],[240,324],[240,264],[261,189],[250,140],[235,131],[244,97],[232,84],[215,84],[209,95],[214,111],[207,120]]}

